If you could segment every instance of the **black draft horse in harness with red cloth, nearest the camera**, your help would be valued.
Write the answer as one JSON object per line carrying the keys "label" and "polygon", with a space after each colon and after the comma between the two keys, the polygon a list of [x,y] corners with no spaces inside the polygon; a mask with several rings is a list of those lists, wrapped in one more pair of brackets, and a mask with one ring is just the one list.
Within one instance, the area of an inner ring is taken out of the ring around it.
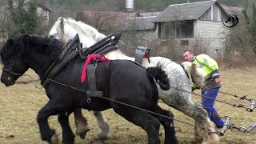
{"label": "black draft horse in harness with red cloth, nearest the camera", "polygon": [[[51,63],[61,54],[63,45],[64,43],[54,38],[28,34],[8,39],[0,53],[3,64],[1,82],[6,86],[14,85],[29,68],[42,79]],[[160,123],[165,129],[165,143],[177,143],[173,114],[158,106],[158,89],[154,79],[160,81],[159,85],[163,90],[170,87],[167,75],[160,66],[144,69],[126,60],[98,62],[97,90],[103,92],[104,98],[91,97],[91,102],[88,102],[87,94],[84,93],[88,90],[88,83],[80,80],[84,62],[79,55],[75,56],[45,86],[50,100],[39,110],[37,117],[42,140],[50,143],[58,140],[55,131],[50,129],[47,122],[51,115],[58,114],[58,122],[62,126],[62,143],[74,143],[68,114],[77,108],[95,111],[113,108],[127,121],[146,130],[148,143],[160,143]],[[76,89],[71,89],[70,86]]]}

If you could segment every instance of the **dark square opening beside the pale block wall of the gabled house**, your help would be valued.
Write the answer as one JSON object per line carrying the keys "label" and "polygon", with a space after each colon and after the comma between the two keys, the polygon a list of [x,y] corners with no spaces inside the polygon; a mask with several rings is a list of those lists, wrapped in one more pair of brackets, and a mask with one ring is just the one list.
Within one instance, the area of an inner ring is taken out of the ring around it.
{"label": "dark square opening beside the pale block wall of the gabled house", "polygon": [[185,21],[176,25],[176,38],[194,38],[194,21]]}

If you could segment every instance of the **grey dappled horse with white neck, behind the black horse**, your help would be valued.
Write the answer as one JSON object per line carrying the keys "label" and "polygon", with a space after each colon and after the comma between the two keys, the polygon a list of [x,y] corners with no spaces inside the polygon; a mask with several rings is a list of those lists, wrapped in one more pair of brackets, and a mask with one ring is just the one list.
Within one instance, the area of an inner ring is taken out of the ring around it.
{"label": "grey dappled horse with white neck, behind the black horse", "polygon": [[[84,22],[77,22],[72,18],[58,18],[49,32],[50,37],[58,38],[63,42],[67,42],[71,38],[74,38],[75,34],[79,34],[83,47],[89,47],[102,38],[105,38],[105,35],[99,33],[94,27],[86,25]],[[119,49],[108,52],[105,54],[105,57],[134,61],[134,58],[126,56],[126,54],[123,54]],[[162,102],[165,102],[168,106],[194,118],[195,139],[197,142],[219,142],[217,134],[209,135],[207,133],[207,128],[215,131],[215,125],[213,122],[210,122],[206,110],[192,101],[190,80],[187,78],[186,72],[183,70],[182,66],[177,62],[162,57],[151,57],[150,63],[145,58],[143,59],[142,66],[157,66],[158,63],[161,63],[164,66],[163,70],[166,71],[170,80],[170,90],[164,91],[158,87],[159,98]],[[77,117],[75,116],[76,126],[78,128],[77,134],[84,134],[88,128],[86,127],[86,120],[82,117],[81,110],[76,110],[74,115],[77,115]],[[110,134],[110,126],[103,118],[101,112],[94,112],[94,116],[97,119],[99,126],[98,136],[100,138],[107,138]],[[200,126],[206,129],[201,130]]]}

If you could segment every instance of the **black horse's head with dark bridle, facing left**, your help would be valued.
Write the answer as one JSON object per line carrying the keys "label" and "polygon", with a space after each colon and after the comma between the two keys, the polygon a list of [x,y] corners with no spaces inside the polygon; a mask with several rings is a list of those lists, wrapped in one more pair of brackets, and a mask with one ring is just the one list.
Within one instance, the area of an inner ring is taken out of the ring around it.
{"label": "black horse's head with dark bridle, facing left", "polygon": [[25,51],[23,42],[26,41],[27,36],[7,40],[0,51],[3,65],[1,82],[6,86],[14,85],[15,81],[29,68],[21,59]]}

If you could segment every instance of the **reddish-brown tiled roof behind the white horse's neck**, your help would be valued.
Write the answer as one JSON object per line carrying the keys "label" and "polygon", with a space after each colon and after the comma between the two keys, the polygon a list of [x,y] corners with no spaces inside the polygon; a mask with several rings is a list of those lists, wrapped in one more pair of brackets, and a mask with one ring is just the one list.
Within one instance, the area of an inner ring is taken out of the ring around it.
{"label": "reddish-brown tiled roof behind the white horse's neck", "polygon": [[96,10],[82,10],[82,16],[90,24],[101,24],[101,30],[110,30],[113,26],[118,26],[127,18],[138,17],[135,13],[123,13],[115,11],[96,11]]}

